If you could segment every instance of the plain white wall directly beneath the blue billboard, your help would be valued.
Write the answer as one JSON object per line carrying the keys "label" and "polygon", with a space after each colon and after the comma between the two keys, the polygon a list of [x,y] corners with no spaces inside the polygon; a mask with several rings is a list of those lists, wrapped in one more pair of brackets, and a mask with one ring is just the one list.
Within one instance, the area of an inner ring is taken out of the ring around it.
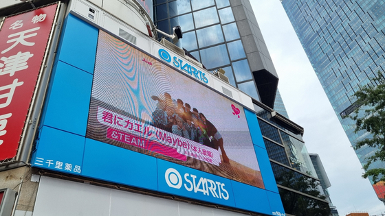
{"label": "plain white wall directly beneath the blue billboard", "polygon": [[33,216],[239,216],[150,195],[41,176]]}

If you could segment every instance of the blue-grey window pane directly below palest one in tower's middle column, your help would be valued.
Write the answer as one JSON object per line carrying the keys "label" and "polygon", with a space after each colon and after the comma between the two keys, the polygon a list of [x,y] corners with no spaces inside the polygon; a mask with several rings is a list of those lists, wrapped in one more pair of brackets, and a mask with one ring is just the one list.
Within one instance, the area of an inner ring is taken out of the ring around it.
{"label": "blue-grey window pane directly below palest one in tower's middle column", "polygon": [[208,70],[230,64],[226,45],[201,49],[201,60]]}

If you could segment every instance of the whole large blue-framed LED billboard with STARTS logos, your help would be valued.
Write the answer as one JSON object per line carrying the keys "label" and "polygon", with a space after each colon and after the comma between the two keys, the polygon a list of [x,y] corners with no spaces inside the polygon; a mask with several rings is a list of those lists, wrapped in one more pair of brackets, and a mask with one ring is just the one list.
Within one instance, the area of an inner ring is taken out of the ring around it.
{"label": "whole large blue-framed LED billboard with STARTS logos", "polygon": [[32,166],[282,213],[255,112],[217,93],[214,77],[156,41],[150,50],[144,53],[70,13]]}

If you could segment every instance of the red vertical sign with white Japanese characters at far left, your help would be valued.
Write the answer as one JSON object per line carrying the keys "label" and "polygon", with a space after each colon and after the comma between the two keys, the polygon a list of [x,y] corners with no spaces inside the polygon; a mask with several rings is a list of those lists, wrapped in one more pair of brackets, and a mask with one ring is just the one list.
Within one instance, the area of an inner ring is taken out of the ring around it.
{"label": "red vertical sign with white Japanese characters at far left", "polygon": [[17,155],[57,4],[5,19],[0,30],[0,160]]}

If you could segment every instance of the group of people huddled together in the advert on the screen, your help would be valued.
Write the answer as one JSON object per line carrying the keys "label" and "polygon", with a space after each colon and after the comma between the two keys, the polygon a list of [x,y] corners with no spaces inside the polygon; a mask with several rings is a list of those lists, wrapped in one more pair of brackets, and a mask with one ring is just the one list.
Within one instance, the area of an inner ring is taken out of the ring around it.
{"label": "group of people huddled together in the advert on the screen", "polygon": [[191,109],[190,104],[184,103],[181,99],[172,99],[169,93],[159,97],[153,95],[151,99],[157,101],[157,107],[152,113],[152,123],[155,127],[213,149],[220,148],[223,162],[229,163],[221,134],[197,108]]}

